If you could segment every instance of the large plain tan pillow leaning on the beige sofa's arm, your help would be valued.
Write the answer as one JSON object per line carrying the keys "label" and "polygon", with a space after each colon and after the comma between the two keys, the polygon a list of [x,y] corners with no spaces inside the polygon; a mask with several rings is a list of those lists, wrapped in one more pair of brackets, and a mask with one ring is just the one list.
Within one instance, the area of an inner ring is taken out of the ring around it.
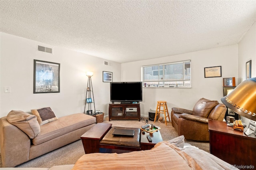
{"label": "large plain tan pillow leaning on the beige sofa's arm", "polygon": [[40,134],[40,125],[35,115],[23,111],[10,111],[7,121],[26,133],[31,139]]}

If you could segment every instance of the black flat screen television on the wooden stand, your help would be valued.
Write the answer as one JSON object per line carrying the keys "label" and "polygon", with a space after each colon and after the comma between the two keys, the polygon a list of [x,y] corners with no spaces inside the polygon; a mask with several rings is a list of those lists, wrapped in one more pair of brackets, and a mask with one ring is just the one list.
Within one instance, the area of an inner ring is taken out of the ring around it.
{"label": "black flat screen television on the wooden stand", "polygon": [[110,82],[110,101],[121,103],[142,101],[142,82]]}

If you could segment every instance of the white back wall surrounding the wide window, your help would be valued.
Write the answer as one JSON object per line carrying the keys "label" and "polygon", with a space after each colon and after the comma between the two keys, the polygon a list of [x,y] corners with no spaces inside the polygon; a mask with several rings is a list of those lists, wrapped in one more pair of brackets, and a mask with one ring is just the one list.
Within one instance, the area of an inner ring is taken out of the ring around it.
{"label": "white back wall surrounding the wide window", "polygon": [[[158,100],[167,101],[168,110],[182,107],[192,110],[198,99],[217,100],[223,97],[222,81],[225,77],[238,77],[238,45],[218,47],[180,55],[122,63],[122,81],[141,81],[143,65],[191,60],[192,88],[143,88],[141,115],[156,110]],[[222,77],[204,78],[204,67],[222,66]],[[237,81],[236,81],[237,83]]]}

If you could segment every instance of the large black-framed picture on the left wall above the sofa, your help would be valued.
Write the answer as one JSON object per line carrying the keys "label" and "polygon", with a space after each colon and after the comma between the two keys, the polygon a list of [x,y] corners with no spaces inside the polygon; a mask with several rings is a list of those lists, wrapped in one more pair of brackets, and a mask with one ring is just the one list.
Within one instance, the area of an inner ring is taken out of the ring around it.
{"label": "large black-framed picture on the left wall above the sofa", "polygon": [[60,64],[34,59],[34,93],[60,93]]}

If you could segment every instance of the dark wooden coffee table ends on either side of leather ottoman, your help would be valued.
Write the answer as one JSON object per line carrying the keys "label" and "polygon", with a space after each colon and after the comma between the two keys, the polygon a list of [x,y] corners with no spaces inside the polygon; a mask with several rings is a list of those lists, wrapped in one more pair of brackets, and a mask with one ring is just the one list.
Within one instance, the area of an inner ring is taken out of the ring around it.
{"label": "dark wooden coffee table ends on either side of leather ottoman", "polygon": [[[87,132],[85,132],[82,136],[82,143],[84,146],[84,152],[86,154],[89,153],[97,153],[100,152],[100,140],[104,137],[104,135],[108,132],[108,130],[112,127],[110,123],[97,123],[94,127],[90,128]],[[152,142],[149,142],[147,139],[147,135],[150,135],[152,138]],[[163,141],[160,131],[154,133],[145,132],[140,136],[140,148],[138,150],[150,150],[154,147],[154,145],[158,142]],[[112,146],[110,148],[120,149],[119,146]],[[129,148],[126,147],[126,150]],[[131,148],[131,151],[132,148]],[[124,151],[125,152],[125,151]]]}

